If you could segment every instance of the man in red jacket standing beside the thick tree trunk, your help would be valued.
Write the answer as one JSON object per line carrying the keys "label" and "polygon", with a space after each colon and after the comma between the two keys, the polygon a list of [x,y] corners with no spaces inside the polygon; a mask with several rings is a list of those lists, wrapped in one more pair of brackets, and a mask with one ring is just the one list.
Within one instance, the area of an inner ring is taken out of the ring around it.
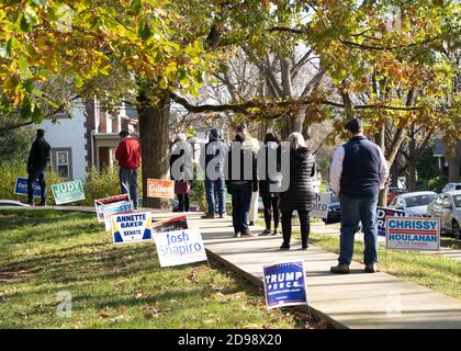
{"label": "man in red jacket standing beside the thick tree trunk", "polygon": [[127,131],[119,133],[122,141],[115,151],[115,158],[120,166],[120,186],[122,194],[130,193],[134,207],[137,208],[137,172],[140,166],[140,146],[139,141],[130,137]]}

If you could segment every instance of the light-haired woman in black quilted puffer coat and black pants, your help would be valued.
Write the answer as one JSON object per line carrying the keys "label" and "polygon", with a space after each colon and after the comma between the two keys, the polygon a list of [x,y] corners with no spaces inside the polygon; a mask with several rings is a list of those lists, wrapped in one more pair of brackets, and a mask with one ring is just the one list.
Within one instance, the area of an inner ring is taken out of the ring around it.
{"label": "light-haired woman in black quilted puffer coat and black pants", "polygon": [[[280,211],[282,212],[283,244],[281,250],[290,249],[291,218],[293,211],[297,212],[301,222],[302,249],[307,249],[311,231],[308,214],[312,211],[315,193],[313,177],[315,176],[315,159],[306,147],[301,133],[292,133],[286,141],[290,143],[290,186],[280,194]],[[284,155],[282,155],[284,157]]]}

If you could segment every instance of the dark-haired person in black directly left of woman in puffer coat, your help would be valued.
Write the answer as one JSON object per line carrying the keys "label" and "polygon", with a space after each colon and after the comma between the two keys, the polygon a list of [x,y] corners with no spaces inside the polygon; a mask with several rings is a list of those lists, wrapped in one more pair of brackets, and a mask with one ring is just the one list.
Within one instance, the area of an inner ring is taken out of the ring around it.
{"label": "dark-haired person in black directly left of woman in puffer coat", "polygon": [[[261,179],[259,181],[259,194],[262,199],[262,204],[265,206],[265,223],[266,229],[261,231],[260,236],[267,235],[277,235],[279,229],[279,222],[280,222],[280,211],[279,211],[279,196],[280,194],[277,192],[271,192],[270,186],[280,186],[281,179],[276,179],[274,174],[269,173],[269,157],[273,157],[276,155],[277,160],[277,171],[280,170],[281,163],[281,148],[280,148],[280,139],[276,133],[268,133],[265,137],[265,176],[266,179]],[[258,160],[259,161],[259,160]],[[273,231],[271,231],[271,222],[272,222],[272,212],[273,212]]]}

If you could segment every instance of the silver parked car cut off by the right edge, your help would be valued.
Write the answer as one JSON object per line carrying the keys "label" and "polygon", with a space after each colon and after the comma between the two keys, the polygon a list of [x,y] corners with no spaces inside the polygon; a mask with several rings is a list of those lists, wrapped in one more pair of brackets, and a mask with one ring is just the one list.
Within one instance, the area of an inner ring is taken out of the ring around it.
{"label": "silver parked car cut off by the right edge", "polygon": [[448,191],[438,194],[427,206],[430,217],[440,218],[440,229],[451,233],[457,239],[461,239],[461,190]]}

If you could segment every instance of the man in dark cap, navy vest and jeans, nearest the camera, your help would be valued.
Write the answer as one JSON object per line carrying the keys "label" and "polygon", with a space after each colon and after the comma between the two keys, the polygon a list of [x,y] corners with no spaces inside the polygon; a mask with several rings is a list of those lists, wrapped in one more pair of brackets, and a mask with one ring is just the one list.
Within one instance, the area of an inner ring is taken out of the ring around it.
{"label": "man in dark cap, navy vest and jeans, nearest the camera", "polygon": [[330,168],[331,191],[338,195],[341,207],[339,263],[330,271],[350,272],[353,237],[361,222],[364,271],[374,273],[378,271],[376,204],[389,176],[387,162],[381,148],[363,136],[360,120],[349,121],[345,128],[349,143],[336,149]]}

